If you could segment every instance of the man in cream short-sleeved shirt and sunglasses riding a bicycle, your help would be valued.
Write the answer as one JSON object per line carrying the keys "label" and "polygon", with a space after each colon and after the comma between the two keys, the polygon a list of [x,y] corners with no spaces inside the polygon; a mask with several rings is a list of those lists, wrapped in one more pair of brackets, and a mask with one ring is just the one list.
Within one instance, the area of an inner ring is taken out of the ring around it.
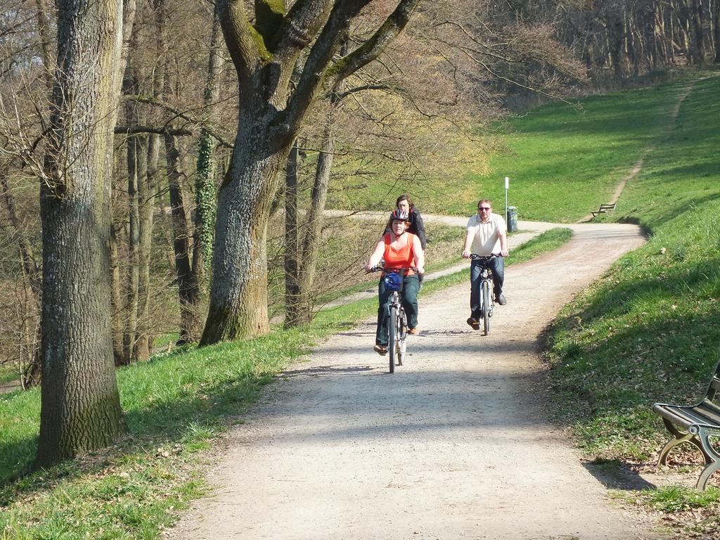
{"label": "man in cream short-sleeved shirt and sunglasses riding a bicycle", "polygon": [[[492,202],[487,199],[477,203],[477,214],[467,221],[467,234],[465,246],[462,251],[463,258],[469,258],[470,253],[480,256],[498,255],[490,261],[492,269],[492,282],[495,286],[495,302],[500,305],[507,304],[503,294],[505,281],[505,259],[508,251],[508,233],[503,216],[492,213]],[[475,330],[480,328],[480,261],[473,260],[470,264],[470,318],[467,323]]]}

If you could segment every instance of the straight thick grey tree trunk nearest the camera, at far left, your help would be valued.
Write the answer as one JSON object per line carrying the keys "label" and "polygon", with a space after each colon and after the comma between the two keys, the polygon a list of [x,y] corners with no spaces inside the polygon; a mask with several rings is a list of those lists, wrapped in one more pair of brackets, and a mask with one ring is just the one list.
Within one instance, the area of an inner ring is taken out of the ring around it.
{"label": "straight thick grey tree trunk nearest the camera, at far left", "polygon": [[125,430],[110,331],[109,194],[122,1],[58,2],[42,222],[42,393],[37,465]]}

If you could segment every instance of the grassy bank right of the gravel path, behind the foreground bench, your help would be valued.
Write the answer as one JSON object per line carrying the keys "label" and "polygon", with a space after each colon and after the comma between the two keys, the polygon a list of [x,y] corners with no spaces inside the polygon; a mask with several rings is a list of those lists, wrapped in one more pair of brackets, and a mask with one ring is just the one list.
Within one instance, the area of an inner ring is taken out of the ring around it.
{"label": "grassy bank right of the gravel path, behind the foreground bench", "polygon": [[[696,402],[720,361],[720,76],[709,75],[685,99],[675,130],[649,153],[613,216],[638,222],[649,241],[578,295],[550,333],[560,417],[572,423],[582,449],[604,459],[654,466],[670,435],[652,403]],[[670,462],[702,460],[684,445]],[[690,468],[688,485],[698,474]],[[714,475],[711,483],[719,482]],[[711,487],[703,498],[693,492],[662,488],[644,500],[667,512],[708,506],[685,521],[709,518],[703,534],[719,537],[720,491]]]}

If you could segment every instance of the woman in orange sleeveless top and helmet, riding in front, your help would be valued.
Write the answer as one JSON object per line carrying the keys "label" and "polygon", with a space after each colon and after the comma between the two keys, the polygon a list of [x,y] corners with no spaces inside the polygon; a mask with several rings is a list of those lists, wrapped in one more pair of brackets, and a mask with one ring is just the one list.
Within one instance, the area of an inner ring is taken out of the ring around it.
{"label": "woman in orange sleeveless top and helmet, riding in front", "polygon": [[[379,264],[380,259],[385,261],[385,269],[400,269],[415,266],[418,273],[425,272],[425,253],[420,239],[408,233],[408,214],[402,210],[395,210],[390,215],[391,232],[384,234],[375,246],[370,260],[365,266],[366,271],[371,271]],[[384,276],[384,272],[382,276]],[[392,291],[385,288],[384,280],[380,277],[378,284],[378,308],[377,308],[377,329],[375,331],[374,350],[378,354],[387,353],[387,305],[390,303]],[[417,334],[418,329],[418,290],[420,281],[413,270],[402,278],[402,307],[408,315],[408,333]]]}

